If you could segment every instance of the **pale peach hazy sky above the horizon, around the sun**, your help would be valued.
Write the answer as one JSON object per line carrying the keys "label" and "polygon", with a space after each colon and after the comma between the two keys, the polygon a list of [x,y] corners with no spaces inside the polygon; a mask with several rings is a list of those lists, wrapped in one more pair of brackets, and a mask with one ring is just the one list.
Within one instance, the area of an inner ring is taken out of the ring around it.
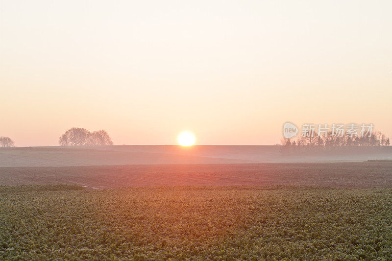
{"label": "pale peach hazy sky above the horizon, around the sun", "polygon": [[392,1],[0,1],[0,135],[273,144],[285,121],[392,137]]}

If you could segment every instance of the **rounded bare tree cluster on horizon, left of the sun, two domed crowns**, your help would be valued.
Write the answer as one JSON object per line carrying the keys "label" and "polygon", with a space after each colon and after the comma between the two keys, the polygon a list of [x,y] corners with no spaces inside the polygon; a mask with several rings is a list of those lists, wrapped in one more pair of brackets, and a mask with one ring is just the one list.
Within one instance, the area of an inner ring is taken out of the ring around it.
{"label": "rounded bare tree cluster on horizon, left of the sun, two domed crowns", "polygon": [[112,139],[105,130],[90,132],[84,128],[71,128],[60,136],[60,146],[80,145],[113,145]]}

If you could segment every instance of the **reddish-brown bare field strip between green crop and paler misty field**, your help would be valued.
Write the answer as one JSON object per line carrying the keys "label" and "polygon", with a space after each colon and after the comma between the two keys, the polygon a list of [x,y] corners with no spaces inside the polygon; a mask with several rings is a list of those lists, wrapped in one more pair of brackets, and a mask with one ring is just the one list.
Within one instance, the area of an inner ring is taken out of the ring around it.
{"label": "reddish-brown bare field strip between green crop and paler misty field", "polygon": [[392,161],[0,167],[0,185],[53,183],[87,188],[162,185],[385,188],[392,187]]}

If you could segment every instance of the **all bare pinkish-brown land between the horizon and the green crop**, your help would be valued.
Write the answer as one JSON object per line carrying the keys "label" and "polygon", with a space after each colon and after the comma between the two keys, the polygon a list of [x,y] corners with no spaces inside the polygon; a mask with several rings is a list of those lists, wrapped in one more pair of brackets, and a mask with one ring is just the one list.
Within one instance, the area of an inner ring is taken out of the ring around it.
{"label": "all bare pinkish-brown land between the horizon and the green crop", "polygon": [[[283,146],[68,146],[0,149],[0,184],[392,187],[392,147],[282,153]],[[370,161],[368,161],[370,160]]]}

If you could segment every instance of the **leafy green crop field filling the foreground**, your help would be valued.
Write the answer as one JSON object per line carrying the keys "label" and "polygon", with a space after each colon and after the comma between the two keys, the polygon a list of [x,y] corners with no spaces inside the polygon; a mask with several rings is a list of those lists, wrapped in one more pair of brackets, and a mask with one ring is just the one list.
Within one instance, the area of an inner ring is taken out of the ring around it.
{"label": "leafy green crop field filling the foreground", "polygon": [[0,260],[392,259],[392,189],[0,187]]}

